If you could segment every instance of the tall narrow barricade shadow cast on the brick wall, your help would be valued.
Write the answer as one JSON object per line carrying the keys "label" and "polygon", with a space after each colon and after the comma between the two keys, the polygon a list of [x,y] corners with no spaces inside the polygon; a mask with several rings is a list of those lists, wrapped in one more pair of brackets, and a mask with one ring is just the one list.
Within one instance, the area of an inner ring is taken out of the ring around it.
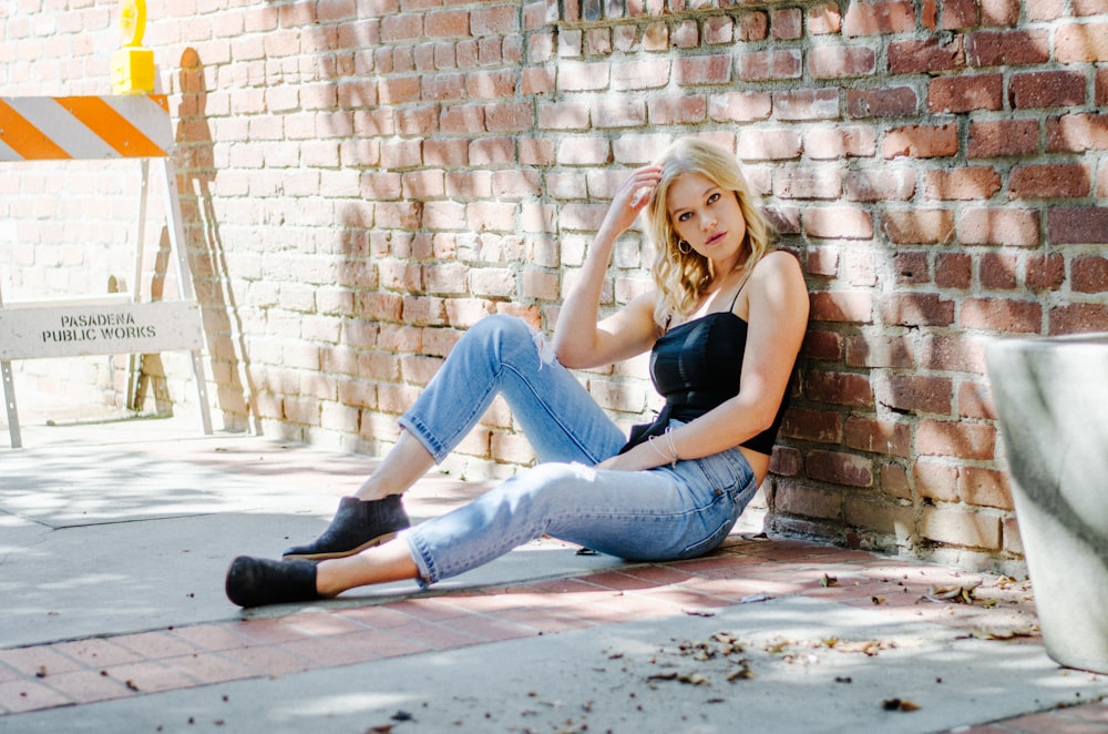
{"label": "tall narrow barricade shadow cast on the brick wall", "polygon": [[230,287],[227,255],[212,203],[215,156],[212,131],[205,118],[207,91],[204,65],[195,49],[184,50],[179,69],[181,109],[175,142],[181,212],[185,248],[193,267],[196,300],[212,358],[216,407],[223,411],[225,428],[250,428],[260,434],[257,393],[250,379],[242,317]]}

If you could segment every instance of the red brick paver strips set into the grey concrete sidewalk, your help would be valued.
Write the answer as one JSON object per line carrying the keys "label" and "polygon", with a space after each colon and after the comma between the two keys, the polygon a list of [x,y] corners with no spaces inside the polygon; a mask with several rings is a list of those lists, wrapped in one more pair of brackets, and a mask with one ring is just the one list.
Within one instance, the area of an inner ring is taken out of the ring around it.
{"label": "red brick paver strips set into the grey concrete sidewalk", "polygon": [[[966,634],[1039,641],[1027,583],[862,551],[732,538],[693,561],[622,568],[278,618],[196,624],[0,650],[0,713],[86,704],[431,650],[803,595]],[[1075,702],[1081,703],[1081,702]],[[1101,702],[964,730],[1108,733]]]}

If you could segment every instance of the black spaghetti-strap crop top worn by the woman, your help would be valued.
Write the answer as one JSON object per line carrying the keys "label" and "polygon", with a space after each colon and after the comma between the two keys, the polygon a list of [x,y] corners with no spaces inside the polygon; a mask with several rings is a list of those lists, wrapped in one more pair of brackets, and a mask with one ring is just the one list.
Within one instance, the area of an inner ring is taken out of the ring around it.
{"label": "black spaghetti-strap crop top worn by the woman", "polygon": [[[632,429],[620,453],[652,436],[660,436],[670,420],[688,422],[738,395],[747,329],[745,320],[725,310],[679,324],[663,334],[650,351],[650,379],[666,398],[666,405],[654,422]],[[787,391],[772,426],[742,446],[771,453],[788,402]]]}

